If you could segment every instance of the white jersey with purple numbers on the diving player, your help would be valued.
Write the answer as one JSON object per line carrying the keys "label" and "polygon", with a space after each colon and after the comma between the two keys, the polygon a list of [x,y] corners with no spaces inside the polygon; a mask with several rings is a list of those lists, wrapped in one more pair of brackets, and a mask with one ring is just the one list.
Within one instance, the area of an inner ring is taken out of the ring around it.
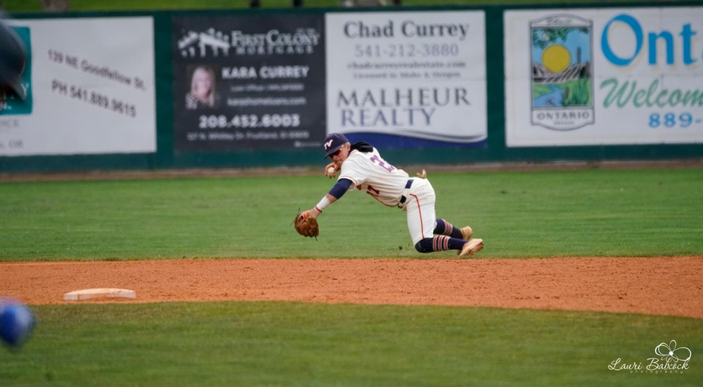
{"label": "white jersey with purple numbers on the diving player", "polygon": [[382,204],[396,207],[408,182],[408,173],[383,160],[376,148],[363,153],[354,150],[342,163],[340,179],[352,180],[349,188],[360,189]]}

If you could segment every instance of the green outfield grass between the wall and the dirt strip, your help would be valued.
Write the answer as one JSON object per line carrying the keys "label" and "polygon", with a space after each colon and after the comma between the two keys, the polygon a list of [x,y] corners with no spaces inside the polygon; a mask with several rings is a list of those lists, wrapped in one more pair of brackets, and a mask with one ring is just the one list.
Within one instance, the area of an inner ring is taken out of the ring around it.
{"label": "green outfield grass between the wall and the dirt strip", "polygon": [[[480,258],[703,252],[698,168],[429,172],[437,215],[470,224],[486,241]],[[0,260],[426,258],[404,212],[358,192],[325,210],[318,241],[297,236],[297,210],[332,184],[319,176],[4,183]]]}

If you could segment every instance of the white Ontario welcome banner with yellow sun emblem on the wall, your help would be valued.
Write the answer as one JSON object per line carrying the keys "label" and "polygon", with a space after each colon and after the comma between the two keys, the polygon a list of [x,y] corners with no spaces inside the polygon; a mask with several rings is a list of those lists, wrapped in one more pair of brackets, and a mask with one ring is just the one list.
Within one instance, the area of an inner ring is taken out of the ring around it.
{"label": "white Ontario welcome banner with yellow sun emblem on the wall", "polygon": [[508,11],[507,146],[703,142],[703,8]]}

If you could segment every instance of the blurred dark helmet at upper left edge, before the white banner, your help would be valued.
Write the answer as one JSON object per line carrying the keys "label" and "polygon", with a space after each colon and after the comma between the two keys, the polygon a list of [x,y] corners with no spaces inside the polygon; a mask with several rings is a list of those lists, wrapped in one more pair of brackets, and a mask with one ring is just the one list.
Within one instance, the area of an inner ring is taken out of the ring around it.
{"label": "blurred dark helmet at upper left edge, before the white banner", "polygon": [[25,71],[27,51],[18,34],[8,27],[0,14],[0,87],[7,93],[24,98],[22,72]]}

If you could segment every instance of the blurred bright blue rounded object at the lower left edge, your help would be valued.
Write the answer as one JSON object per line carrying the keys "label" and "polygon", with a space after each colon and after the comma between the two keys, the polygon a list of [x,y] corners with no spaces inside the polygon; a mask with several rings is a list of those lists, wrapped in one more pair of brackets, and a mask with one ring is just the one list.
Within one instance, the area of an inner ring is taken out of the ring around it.
{"label": "blurred bright blue rounded object at the lower left edge", "polygon": [[0,338],[12,348],[20,348],[30,338],[36,320],[27,305],[0,299]]}

